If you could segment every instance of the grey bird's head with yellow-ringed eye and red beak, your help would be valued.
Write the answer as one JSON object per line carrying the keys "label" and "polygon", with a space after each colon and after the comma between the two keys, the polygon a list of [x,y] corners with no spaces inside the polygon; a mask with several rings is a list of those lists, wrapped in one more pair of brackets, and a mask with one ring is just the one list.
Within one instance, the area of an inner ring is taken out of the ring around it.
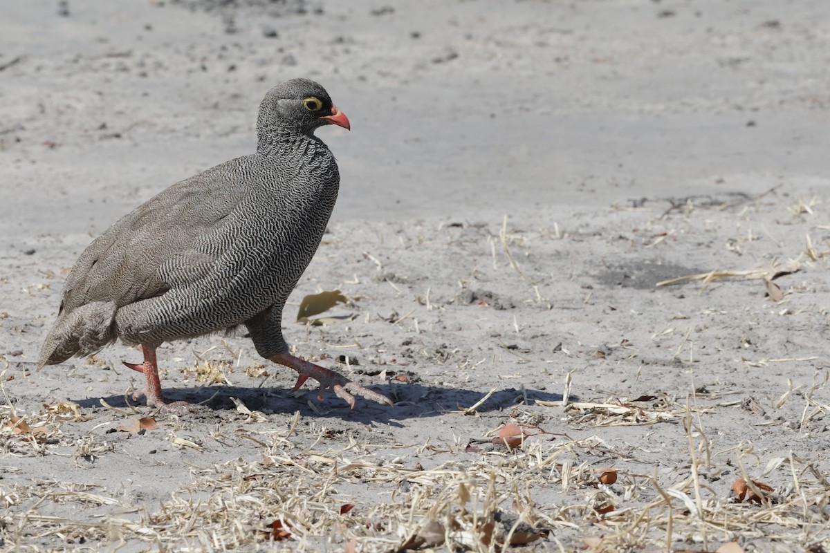
{"label": "grey bird's head with yellow-ringed eye and red beak", "polygon": [[312,134],[323,125],[349,129],[349,119],[337,109],[329,93],[308,79],[292,79],[276,85],[260,104],[259,133]]}

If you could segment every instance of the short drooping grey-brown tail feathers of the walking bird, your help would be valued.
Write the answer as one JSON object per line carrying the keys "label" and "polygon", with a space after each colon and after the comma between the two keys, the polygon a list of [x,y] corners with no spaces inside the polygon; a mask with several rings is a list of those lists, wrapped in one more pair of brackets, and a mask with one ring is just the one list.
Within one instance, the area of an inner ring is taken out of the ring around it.
{"label": "short drooping grey-brown tail feathers of the walking bird", "polygon": [[85,357],[115,341],[115,302],[92,302],[61,313],[43,341],[37,370],[72,356]]}

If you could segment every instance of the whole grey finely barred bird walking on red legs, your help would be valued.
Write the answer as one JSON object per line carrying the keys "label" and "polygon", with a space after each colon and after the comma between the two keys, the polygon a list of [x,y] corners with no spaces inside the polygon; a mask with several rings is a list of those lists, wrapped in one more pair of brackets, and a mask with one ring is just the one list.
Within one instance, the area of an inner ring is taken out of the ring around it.
{"label": "whole grey finely barred bird walking on red legs", "polygon": [[[310,263],[337,199],[339,172],[314,131],[349,128],[310,80],[286,81],[260,106],[256,153],[178,182],[86,248],[66,279],[39,366],[87,356],[120,338],[140,344],[149,405],[166,403],[155,349],[244,324],[256,351],[332,388],[388,400],[288,353],[281,314]],[[126,363],[125,363],[126,364]],[[349,390],[349,391],[347,391]]]}

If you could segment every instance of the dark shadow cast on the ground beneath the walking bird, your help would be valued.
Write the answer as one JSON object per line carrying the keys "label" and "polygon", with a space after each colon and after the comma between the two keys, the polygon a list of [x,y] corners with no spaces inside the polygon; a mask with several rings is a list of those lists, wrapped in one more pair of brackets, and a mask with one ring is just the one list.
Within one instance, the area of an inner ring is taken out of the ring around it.
{"label": "dark shadow cast on the ground beneath the walking bird", "polygon": [[[266,387],[168,388],[165,390],[165,397],[173,401],[185,400],[191,404],[201,404],[198,410],[202,412],[206,409],[217,412],[237,410],[237,404],[231,399],[233,397],[241,400],[249,410],[266,414],[291,414],[300,411],[300,415],[303,416],[336,418],[365,424],[376,422],[402,427],[403,420],[422,419],[442,415],[448,411],[470,409],[487,395],[481,390],[422,386],[417,383],[371,387],[393,400],[394,408],[357,398],[354,410],[349,410],[349,405],[330,391],[325,391],[323,401],[320,401],[317,390],[304,389],[297,394],[291,394],[290,390],[284,388]],[[113,407],[129,407],[124,395],[110,395],[102,399]],[[541,390],[506,388],[496,390],[486,400],[481,401],[481,405],[476,405],[475,412],[504,410],[515,405],[532,404],[535,400],[560,401],[562,395]],[[73,401],[84,408],[100,407],[100,398]],[[138,405],[144,407],[144,400],[139,400]]]}

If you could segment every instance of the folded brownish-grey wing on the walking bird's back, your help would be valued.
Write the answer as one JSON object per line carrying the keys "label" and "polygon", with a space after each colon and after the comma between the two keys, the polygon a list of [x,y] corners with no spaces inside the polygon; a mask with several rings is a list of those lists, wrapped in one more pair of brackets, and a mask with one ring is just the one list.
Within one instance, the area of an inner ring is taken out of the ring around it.
{"label": "folded brownish-grey wing on the walking bird's back", "polygon": [[61,313],[105,301],[117,307],[154,298],[170,289],[160,274],[165,263],[184,269],[183,279],[209,270],[211,255],[192,251],[242,201],[234,176],[247,158],[233,159],[160,192],[95,239],[77,260],[64,285]]}

